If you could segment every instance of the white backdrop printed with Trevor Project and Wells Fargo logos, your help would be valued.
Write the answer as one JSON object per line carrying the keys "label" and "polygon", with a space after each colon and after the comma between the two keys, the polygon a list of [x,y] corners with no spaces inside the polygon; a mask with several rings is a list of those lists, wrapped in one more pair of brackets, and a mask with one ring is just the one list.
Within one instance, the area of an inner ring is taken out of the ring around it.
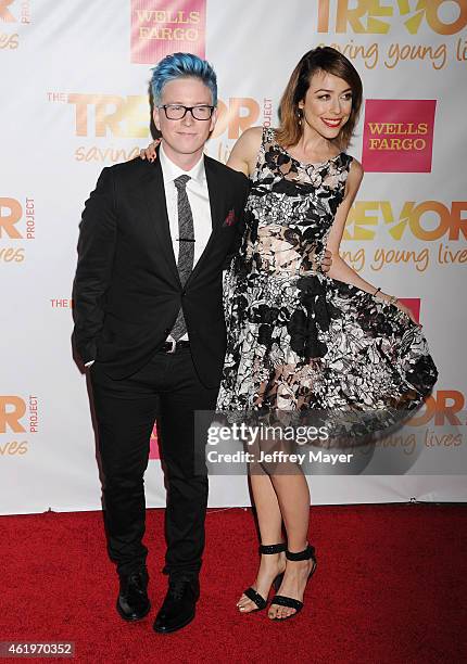
{"label": "white backdrop printed with Trevor Project and Wells Fargo logos", "polygon": [[[71,348],[78,224],[100,170],[151,140],[151,67],[175,51],[213,63],[207,153],[226,162],[244,129],[276,125],[291,71],[318,44],[344,53],[365,90],[350,153],[366,176],[342,255],[413,307],[440,378],[421,446],[394,438],[392,472],[378,449],[358,474],[318,472],[313,499],[467,499],[467,0],[0,0],[2,514],[101,506]],[[155,436],[146,481],[148,505],[163,506]],[[245,477],[212,477],[210,500],[249,505]]]}

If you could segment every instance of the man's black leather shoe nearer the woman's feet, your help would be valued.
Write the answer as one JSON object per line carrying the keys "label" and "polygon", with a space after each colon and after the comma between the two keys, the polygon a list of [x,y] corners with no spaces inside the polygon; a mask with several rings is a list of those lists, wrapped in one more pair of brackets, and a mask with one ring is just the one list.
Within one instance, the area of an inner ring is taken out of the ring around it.
{"label": "man's black leather shoe nearer the woman's feet", "polygon": [[154,631],[169,634],[191,623],[199,597],[198,579],[171,579],[164,603],[154,622]]}

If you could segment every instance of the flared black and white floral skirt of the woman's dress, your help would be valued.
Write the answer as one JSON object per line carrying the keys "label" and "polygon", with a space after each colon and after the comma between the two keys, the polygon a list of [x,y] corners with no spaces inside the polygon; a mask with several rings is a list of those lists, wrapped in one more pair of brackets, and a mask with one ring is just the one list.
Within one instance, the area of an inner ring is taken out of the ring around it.
{"label": "flared black and white floral skirt of the woman's dress", "polygon": [[397,307],[325,274],[227,272],[218,411],[413,410],[438,372]]}

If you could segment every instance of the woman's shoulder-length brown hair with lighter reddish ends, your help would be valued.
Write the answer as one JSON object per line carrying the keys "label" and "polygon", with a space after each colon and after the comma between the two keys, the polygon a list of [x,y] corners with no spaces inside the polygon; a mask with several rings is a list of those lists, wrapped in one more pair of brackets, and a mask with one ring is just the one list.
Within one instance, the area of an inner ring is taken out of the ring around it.
{"label": "woman's shoulder-length brown hair with lighter reddish ends", "polygon": [[276,131],[276,140],[285,148],[292,148],[300,141],[303,129],[299,122],[301,117],[299,102],[305,99],[312,76],[317,72],[326,72],[342,78],[352,90],[352,111],[336,143],[339,148],[345,149],[351,141],[362,106],[362,79],[345,55],[331,47],[318,47],[305,53],[300,60],[280,100],[280,127]]}

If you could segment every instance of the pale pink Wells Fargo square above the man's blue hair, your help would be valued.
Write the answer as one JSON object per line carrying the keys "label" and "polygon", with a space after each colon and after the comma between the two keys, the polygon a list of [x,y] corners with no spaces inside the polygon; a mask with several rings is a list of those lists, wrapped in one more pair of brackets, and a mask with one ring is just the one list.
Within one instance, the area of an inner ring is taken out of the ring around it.
{"label": "pale pink Wells Fargo square above the man's blue hair", "polygon": [[204,58],[206,0],[131,0],[131,62],[154,64],[177,51]]}

